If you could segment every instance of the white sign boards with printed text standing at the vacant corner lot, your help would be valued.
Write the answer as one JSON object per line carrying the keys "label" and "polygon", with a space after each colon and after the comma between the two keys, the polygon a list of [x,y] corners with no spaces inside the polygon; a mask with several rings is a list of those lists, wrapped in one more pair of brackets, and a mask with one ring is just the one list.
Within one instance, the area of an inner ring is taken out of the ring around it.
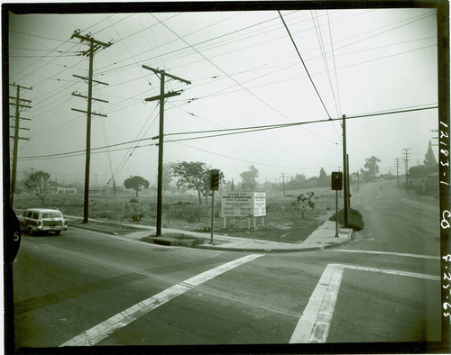
{"label": "white sign boards with printed text standing at the vacant corner lot", "polygon": [[231,217],[258,217],[266,215],[264,192],[229,192],[222,196],[222,215]]}

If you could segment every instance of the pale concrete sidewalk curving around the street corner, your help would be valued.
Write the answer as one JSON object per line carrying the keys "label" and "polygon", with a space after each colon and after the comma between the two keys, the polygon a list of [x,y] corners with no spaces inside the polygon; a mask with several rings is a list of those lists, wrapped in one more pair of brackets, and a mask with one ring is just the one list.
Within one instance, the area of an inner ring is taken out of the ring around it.
{"label": "pale concrete sidewalk curving around the street corner", "polygon": [[[69,216],[68,216],[69,217]],[[69,217],[70,218],[70,217]],[[102,222],[98,221],[97,222]],[[143,231],[132,232],[126,234],[124,238],[132,240],[141,240],[148,237],[152,241],[156,237],[151,237],[155,233],[155,227],[149,225],[140,225],[132,223],[120,223],[123,225],[130,225],[135,228],[140,228]],[[351,228],[338,228],[338,237],[336,234],[336,223],[333,221],[326,221],[321,224],[315,232],[312,232],[305,241],[295,243],[280,242],[280,241],[264,241],[260,239],[240,238],[228,235],[213,235],[213,245],[210,243],[211,235],[208,232],[189,232],[172,228],[162,228],[161,233],[163,237],[157,239],[167,241],[166,245],[170,245],[170,238],[164,237],[169,234],[183,234],[192,236],[193,238],[201,238],[205,242],[198,244],[198,249],[208,250],[224,250],[224,251],[249,251],[249,252],[289,252],[289,251],[308,251],[308,250],[323,250],[334,247],[338,244],[350,241],[353,230]]]}

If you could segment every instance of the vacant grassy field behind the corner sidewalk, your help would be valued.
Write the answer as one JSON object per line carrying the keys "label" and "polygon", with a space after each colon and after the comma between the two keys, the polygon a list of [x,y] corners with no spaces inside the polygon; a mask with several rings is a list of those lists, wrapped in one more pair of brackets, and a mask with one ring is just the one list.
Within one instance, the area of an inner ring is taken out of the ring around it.
{"label": "vacant grassy field behind the corner sidewalk", "polygon": [[[297,196],[300,193],[306,194],[310,191],[315,193],[315,209],[308,209],[304,218],[301,218]],[[335,192],[329,187],[286,191],[286,196],[282,196],[280,192],[269,192],[266,194],[264,225],[262,225],[262,217],[256,218],[255,228],[253,228],[252,218],[228,217],[226,228],[224,228],[224,218],[220,216],[219,196],[217,194],[215,199],[218,202],[215,203],[214,231],[219,234],[253,239],[303,241],[335,212]],[[76,196],[49,195],[46,198],[45,205],[49,208],[58,208],[66,215],[82,216],[83,201],[84,196],[82,194]],[[339,199],[339,206],[342,203],[343,199]],[[91,194],[89,196],[89,218],[116,223],[155,225],[156,205],[156,196],[135,198],[129,194],[117,196]],[[14,196],[14,209],[38,206],[40,206],[39,201],[34,196]],[[211,198],[208,198],[208,205],[205,203],[205,197],[202,199],[202,204],[199,205],[197,196],[163,196],[161,219],[163,228],[209,232],[210,223]],[[126,232],[133,232],[133,228],[130,230],[124,228],[120,231],[121,234]]]}

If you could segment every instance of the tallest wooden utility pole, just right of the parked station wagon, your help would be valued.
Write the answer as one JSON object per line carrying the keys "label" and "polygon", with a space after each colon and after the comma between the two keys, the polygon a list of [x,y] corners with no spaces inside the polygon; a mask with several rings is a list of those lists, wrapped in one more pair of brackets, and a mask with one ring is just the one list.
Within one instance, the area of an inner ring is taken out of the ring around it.
{"label": "tallest wooden utility pole, just right of the parked station wagon", "polygon": [[82,96],[77,93],[72,93],[72,96],[78,96],[87,99],[87,111],[78,110],[75,108],[72,108],[72,111],[78,111],[83,114],[87,114],[87,138],[86,138],[86,164],[85,164],[85,202],[84,202],[84,208],[83,208],[83,223],[87,223],[89,216],[88,216],[88,208],[89,208],[89,166],[91,162],[91,116],[98,115],[102,117],[106,117],[106,114],[97,114],[95,112],[92,112],[92,101],[101,101],[104,103],[108,103],[106,100],[101,100],[98,98],[92,97],[92,85],[93,83],[97,84],[103,84],[108,85],[106,83],[102,83],[101,81],[93,80],[93,67],[94,67],[94,54],[97,52],[97,50],[105,49],[109,46],[111,46],[111,42],[105,43],[102,41],[97,41],[93,37],[91,37],[89,34],[83,36],[79,34],[79,30],[75,31],[72,34],[72,37],[70,39],[76,37],[81,42],[86,41],[89,45],[89,49],[85,50],[81,53],[83,56],[89,57],[89,75],[88,77],[78,77],[74,75],[74,77],[81,78],[85,81],[87,81],[87,96]]}

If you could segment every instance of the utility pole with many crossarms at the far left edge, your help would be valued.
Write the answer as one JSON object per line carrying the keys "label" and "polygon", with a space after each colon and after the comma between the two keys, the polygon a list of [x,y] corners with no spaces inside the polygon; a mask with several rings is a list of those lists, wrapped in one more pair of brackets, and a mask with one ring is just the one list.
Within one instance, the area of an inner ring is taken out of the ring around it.
{"label": "utility pole with many crossarms at the far left edge", "polygon": [[19,147],[19,140],[29,141],[29,138],[23,138],[19,136],[19,130],[30,131],[28,128],[23,128],[20,126],[21,120],[32,121],[29,118],[23,118],[20,116],[21,108],[32,108],[32,106],[27,105],[30,104],[31,100],[25,100],[21,98],[21,88],[26,90],[32,90],[32,87],[24,87],[20,85],[10,84],[10,86],[15,86],[15,97],[9,96],[10,99],[15,100],[15,102],[9,103],[9,105],[15,106],[15,115],[10,115],[11,118],[14,118],[14,126],[10,126],[10,128],[14,128],[14,136],[10,136],[10,138],[14,139],[14,148],[13,148],[13,171],[11,174],[11,195],[10,195],[10,204],[11,208],[14,207],[14,192],[15,192],[15,180],[17,178],[17,150]]}

